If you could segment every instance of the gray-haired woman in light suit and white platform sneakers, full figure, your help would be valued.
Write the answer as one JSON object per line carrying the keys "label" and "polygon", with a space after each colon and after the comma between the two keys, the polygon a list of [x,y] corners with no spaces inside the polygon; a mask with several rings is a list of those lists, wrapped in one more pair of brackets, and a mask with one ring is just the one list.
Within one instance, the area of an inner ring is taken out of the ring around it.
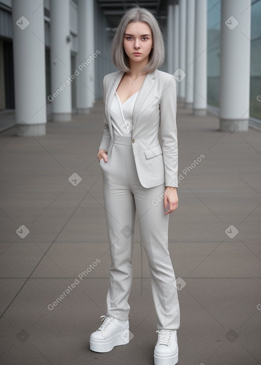
{"label": "gray-haired woman in light suit and white platform sneakers, full figure", "polygon": [[127,300],[137,211],[158,317],[154,363],[174,365],[179,303],[168,222],[178,204],[176,83],[173,75],[156,69],[164,61],[164,42],[149,11],[135,6],[124,14],[113,40],[112,60],[119,71],[103,79],[105,129],[97,153],[112,265],[107,315],[91,334],[90,349],[108,352],[129,342]]}

